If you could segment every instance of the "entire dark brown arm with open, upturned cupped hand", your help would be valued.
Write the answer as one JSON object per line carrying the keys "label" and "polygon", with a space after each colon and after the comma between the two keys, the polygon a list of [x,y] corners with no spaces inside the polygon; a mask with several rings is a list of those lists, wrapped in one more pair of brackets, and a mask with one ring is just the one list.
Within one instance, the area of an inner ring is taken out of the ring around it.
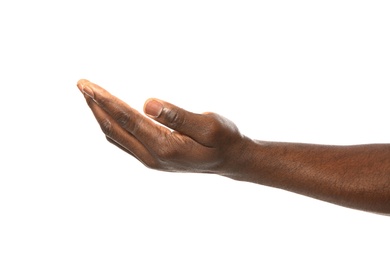
{"label": "entire dark brown arm with open, upturned cupped hand", "polygon": [[214,173],[390,214],[390,144],[257,141],[215,113],[195,114],[149,99],[144,116],[88,80],[80,80],[77,86],[107,140],[149,168]]}

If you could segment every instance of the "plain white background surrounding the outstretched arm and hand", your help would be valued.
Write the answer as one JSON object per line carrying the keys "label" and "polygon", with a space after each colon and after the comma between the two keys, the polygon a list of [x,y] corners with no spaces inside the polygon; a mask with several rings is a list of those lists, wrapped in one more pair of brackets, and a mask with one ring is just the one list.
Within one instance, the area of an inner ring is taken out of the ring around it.
{"label": "plain white background surrounding the outstretched arm and hand", "polygon": [[388,1],[1,1],[0,259],[389,259],[389,217],[164,173],[76,88],[268,141],[390,142]]}

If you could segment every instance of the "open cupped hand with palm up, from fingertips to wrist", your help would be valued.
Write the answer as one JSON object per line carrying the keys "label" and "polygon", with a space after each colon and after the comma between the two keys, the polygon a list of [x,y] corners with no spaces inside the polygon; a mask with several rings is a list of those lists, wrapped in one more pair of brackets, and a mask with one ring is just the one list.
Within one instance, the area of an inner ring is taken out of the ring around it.
{"label": "open cupped hand with palm up, from fingertips to wrist", "polygon": [[246,138],[228,119],[215,113],[191,113],[158,99],[146,101],[146,117],[88,80],[80,80],[77,86],[107,140],[147,167],[180,172],[236,171],[235,160]]}

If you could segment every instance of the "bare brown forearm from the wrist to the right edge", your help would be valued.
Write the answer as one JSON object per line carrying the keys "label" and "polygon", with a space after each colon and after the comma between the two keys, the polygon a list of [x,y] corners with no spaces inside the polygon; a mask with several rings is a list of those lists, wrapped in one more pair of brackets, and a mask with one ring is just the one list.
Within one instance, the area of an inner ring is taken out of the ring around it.
{"label": "bare brown forearm from the wrist to the right edge", "polygon": [[338,205],[390,213],[390,145],[327,146],[247,139],[226,176]]}

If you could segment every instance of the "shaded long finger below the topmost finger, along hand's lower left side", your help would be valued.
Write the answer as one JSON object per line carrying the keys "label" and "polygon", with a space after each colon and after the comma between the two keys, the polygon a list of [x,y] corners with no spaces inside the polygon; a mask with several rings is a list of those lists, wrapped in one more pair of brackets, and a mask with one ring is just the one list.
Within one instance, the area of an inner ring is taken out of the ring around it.
{"label": "shaded long finger below the topmost finger, along hand's lower left side", "polygon": [[[100,108],[96,102],[86,96],[88,106],[91,108],[100,128],[106,137],[121,146],[126,152],[136,157],[139,161],[153,167],[155,159],[149,150],[134,136],[124,130],[107,112]],[[119,147],[118,146],[118,147]]]}

